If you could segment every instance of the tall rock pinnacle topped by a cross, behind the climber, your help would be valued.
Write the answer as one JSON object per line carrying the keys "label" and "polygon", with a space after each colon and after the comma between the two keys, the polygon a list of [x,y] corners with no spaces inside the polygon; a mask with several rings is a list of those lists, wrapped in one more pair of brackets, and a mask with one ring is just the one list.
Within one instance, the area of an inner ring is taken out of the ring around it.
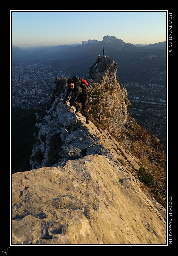
{"label": "tall rock pinnacle topped by a cross, behind the climber", "polygon": [[112,134],[121,136],[121,131],[128,122],[127,107],[130,102],[126,88],[116,80],[117,68],[118,64],[109,57],[99,55],[89,68],[89,85],[91,91],[96,86],[102,88],[111,113],[111,117],[105,122],[106,127]]}

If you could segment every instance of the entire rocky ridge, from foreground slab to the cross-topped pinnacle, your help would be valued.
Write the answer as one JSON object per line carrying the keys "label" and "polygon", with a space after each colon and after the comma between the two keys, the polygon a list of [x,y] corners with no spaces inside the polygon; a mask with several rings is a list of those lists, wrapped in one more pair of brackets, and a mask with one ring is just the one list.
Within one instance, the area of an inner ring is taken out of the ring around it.
{"label": "entire rocky ridge, from foreground slab to the cross-topped pinnacle", "polygon": [[51,105],[36,116],[32,170],[12,175],[12,244],[166,243],[165,209],[143,192],[136,175],[143,163],[122,132],[134,120],[118,66],[99,57],[89,89],[102,83],[113,116],[101,129],[74,107],[66,112],[67,79],[56,79]]}

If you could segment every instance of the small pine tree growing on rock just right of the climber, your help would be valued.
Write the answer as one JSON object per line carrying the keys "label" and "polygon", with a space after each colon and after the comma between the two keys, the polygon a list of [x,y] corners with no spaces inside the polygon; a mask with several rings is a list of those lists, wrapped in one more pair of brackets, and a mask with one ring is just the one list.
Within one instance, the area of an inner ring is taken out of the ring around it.
{"label": "small pine tree growing on rock just right of the climber", "polygon": [[97,87],[91,94],[91,98],[91,109],[89,110],[89,112],[93,116],[93,118],[97,120],[99,124],[101,124],[102,119],[111,116],[107,109],[108,105],[105,103],[104,93],[99,87]]}

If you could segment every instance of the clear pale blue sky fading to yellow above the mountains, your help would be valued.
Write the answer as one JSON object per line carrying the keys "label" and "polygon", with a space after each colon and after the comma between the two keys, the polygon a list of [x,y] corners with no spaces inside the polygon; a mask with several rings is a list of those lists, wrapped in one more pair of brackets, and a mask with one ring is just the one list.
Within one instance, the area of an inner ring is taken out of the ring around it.
{"label": "clear pale blue sky fading to yellow above the mountains", "polygon": [[125,43],[166,41],[166,11],[11,11],[12,45],[56,46],[104,36]]}

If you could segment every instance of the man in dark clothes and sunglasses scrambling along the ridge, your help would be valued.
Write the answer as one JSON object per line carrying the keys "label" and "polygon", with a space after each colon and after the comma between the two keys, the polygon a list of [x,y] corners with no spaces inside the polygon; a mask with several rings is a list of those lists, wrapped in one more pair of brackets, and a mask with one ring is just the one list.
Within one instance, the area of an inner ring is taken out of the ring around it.
{"label": "man in dark clothes and sunglasses scrambling along the ridge", "polygon": [[[76,108],[75,113],[78,113],[81,109],[83,111],[83,115],[86,117],[86,124],[89,123],[89,113],[87,109],[88,104],[88,87],[83,84],[82,79],[77,76],[73,76],[73,79],[68,79],[67,84],[67,93],[64,97],[64,104],[61,108],[65,108],[65,103],[68,99],[70,92],[74,92],[74,96],[69,100],[70,107],[68,108],[67,112],[71,111],[72,106]],[[81,104],[82,106],[81,106]]]}

